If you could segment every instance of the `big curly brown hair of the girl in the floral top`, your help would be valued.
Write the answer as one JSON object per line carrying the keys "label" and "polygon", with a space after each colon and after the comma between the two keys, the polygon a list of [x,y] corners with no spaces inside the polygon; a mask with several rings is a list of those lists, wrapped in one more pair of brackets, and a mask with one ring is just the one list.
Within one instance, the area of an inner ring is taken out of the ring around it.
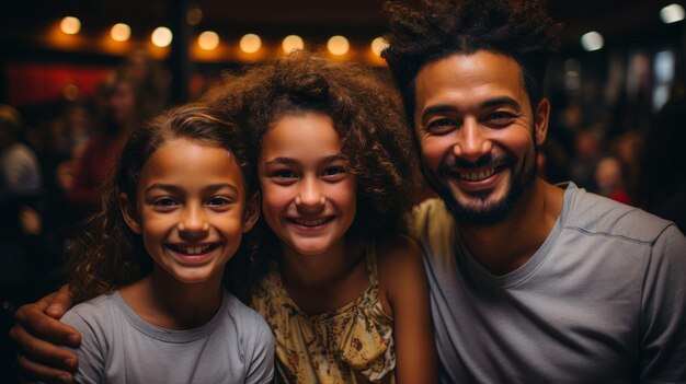
{"label": "big curly brown hair of the girl in the floral top", "polygon": [[[416,156],[397,92],[369,68],[299,51],[242,75],[226,74],[207,100],[249,130],[255,175],[262,138],[278,119],[309,112],[331,117],[346,171],[357,179],[357,213],[347,235],[379,238],[400,231],[415,202]],[[276,236],[263,219],[255,230],[254,254],[264,257],[276,248]]]}

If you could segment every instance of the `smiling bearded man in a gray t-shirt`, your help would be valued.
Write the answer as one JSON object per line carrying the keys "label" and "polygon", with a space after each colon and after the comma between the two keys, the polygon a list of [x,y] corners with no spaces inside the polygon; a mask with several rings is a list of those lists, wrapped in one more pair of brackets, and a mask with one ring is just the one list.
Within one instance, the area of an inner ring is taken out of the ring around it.
{"label": "smiling bearded man in a gray t-shirt", "polygon": [[558,26],[542,1],[388,7],[384,57],[441,197],[412,222],[446,383],[686,381],[686,238],[536,175]]}

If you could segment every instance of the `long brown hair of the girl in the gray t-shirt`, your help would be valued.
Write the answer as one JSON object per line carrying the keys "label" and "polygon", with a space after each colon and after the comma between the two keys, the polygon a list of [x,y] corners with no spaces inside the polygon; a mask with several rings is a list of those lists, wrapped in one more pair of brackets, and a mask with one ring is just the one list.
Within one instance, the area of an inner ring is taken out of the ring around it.
{"label": "long brown hair of the girl in the gray t-shirt", "polygon": [[[119,196],[135,196],[147,160],[165,142],[180,138],[229,151],[243,173],[247,199],[256,191],[249,162],[249,154],[254,151],[245,140],[244,131],[230,116],[196,103],[167,110],[145,123],[124,146],[102,188],[100,209],[87,219],[82,231],[67,248],[70,287],[77,302],[133,283],[152,270],[153,261],[141,236],[124,221]],[[129,201],[137,211],[136,199]],[[240,249],[238,254],[241,254]],[[237,256],[229,264],[239,263]]]}

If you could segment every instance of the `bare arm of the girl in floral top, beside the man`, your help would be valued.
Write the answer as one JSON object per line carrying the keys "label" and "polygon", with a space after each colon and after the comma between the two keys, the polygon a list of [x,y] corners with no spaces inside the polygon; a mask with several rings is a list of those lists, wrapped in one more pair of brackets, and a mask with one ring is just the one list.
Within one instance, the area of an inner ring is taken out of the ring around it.
{"label": "bare arm of the girl in floral top, beside the man", "polygon": [[398,383],[435,383],[436,348],[428,283],[419,244],[397,236],[378,244],[379,294],[390,306]]}

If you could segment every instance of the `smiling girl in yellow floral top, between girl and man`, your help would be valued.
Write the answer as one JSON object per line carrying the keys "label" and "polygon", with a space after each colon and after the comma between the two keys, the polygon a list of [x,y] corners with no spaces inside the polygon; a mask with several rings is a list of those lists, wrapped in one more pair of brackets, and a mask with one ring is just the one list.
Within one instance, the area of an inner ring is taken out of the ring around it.
{"label": "smiling girl in yellow floral top, between girl and man", "polygon": [[287,383],[432,383],[419,246],[401,236],[416,179],[396,94],[309,54],[228,77],[210,104],[249,129],[262,197],[249,301]]}

